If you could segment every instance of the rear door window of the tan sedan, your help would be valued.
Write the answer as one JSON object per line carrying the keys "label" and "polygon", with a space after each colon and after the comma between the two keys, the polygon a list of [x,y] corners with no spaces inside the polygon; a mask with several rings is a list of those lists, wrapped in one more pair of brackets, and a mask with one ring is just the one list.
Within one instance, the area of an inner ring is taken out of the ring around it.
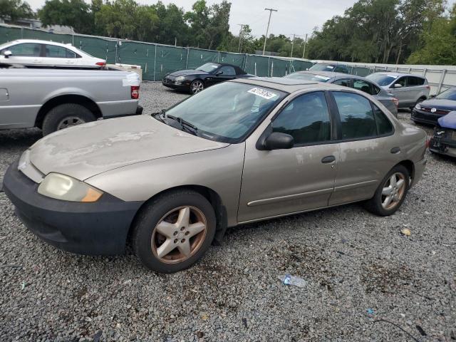
{"label": "rear door window of the tan sedan", "polygon": [[371,102],[361,95],[333,91],[334,100],[341,118],[342,140],[372,138],[377,135],[377,126]]}

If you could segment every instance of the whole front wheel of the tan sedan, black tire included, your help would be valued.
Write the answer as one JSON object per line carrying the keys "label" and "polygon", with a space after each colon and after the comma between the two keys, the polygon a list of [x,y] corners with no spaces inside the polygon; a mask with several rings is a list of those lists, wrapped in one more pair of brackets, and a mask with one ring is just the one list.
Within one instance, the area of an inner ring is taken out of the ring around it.
{"label": "whole front wheel of the tan sedan, black tire included", "polygon": [[[186,209],[190,220],[185,219]],[[204,224],[204,229],[195,233]],[[214,239],[215,226],[214,209],[205,197],[190,190],[176,190],[158,196],[140,210],[131,244],[148,269],[174,273],[203,256]]]}

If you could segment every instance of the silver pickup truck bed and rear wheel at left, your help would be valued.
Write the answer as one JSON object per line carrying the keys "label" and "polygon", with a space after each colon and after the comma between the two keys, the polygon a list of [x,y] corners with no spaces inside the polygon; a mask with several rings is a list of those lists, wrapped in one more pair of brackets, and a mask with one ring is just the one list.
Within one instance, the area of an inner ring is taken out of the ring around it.
{"label": "silver pickup truck bed and rear wheel at left", "polygon": [[98,119],[139,115],[136,73],[0,69],[0,129],[38,127],[43,135]]}

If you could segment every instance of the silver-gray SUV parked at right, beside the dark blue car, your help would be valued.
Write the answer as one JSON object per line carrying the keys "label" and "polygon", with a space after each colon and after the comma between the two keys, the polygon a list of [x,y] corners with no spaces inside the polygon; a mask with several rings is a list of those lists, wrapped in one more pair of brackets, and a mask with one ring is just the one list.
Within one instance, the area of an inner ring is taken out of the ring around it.
{"label": "silver-gray SUV parked at right, beside the dark blue car", "polygon": [[378,83],[399,100],[399,108],[413,109],[417,103],[429,97],[430,86],[426,78],[410,73],[371,73],[368,80]]}

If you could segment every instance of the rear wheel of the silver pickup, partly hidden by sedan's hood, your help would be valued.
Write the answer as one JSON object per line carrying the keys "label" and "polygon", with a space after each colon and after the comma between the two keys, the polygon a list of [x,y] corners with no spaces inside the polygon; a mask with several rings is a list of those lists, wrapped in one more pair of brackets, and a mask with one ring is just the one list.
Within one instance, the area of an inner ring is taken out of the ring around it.
{"label": "rear wheel of the silver pickup, partly hidden by sedan's hood", "polygon": [[[67,120],[67,121],[66,121]],[[48,111],[43,120],[43,135],[81,123],[95,121],[95,115],[83,105],[63,103]]]}

